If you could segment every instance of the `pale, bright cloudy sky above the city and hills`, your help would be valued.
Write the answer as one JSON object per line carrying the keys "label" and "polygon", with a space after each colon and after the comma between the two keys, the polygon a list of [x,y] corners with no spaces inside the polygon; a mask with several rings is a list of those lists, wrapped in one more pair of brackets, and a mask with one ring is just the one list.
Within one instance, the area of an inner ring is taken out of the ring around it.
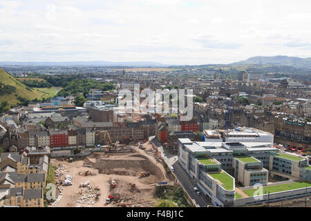
{"label": "pale, bright cloudy sky above the city and hills", "polygon": [[309,0],[0,0],[0,61],[311,57]]}

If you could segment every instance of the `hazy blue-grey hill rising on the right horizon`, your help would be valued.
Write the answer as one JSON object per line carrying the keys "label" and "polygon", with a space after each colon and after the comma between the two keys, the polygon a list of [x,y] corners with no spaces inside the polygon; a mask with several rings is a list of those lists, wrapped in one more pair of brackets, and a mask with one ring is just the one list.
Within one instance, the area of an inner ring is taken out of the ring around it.
{"label": "hazy blue-grey hill rising on the right horizon", "polygon": [[250,57],[245,61],[238,61],[232,63],[234,65],[243,64],[258,64],[258,65],[283,65],[283,66],[294,66],[299,68],[311,68],[311,57],[300,58],[300,57],[288,57],[288,56],[274,56],[274,57]]}

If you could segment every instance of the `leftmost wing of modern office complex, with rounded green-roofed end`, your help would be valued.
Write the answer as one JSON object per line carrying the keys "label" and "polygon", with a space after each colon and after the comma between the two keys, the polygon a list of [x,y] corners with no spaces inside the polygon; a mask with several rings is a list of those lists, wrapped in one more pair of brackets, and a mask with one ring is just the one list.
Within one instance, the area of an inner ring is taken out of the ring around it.
{"label": "leftmost wing of modern office complex, with rounded green-roofed end", "polygon": [[209,149],[191,142],[188,138],[178,139],[178,162],[193,178],[203,193],[220,206],[234,204],[234,177],[221,169],[218,160],[211,158]]}

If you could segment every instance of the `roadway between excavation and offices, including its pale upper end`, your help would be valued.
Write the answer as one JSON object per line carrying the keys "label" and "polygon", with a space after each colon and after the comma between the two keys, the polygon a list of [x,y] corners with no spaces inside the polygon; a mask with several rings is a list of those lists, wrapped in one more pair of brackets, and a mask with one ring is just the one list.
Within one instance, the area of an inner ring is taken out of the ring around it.
{"label": "roadway between excavation and offices, including its pale upper end", "polygon": [[[154,136],[149,137],[149,142],[153,143],[155,146],[158,147],[158,151],[161,152],[163,160],[167,163],[168,166],[173,166],[174,168],[174,174],[178,178],[178,182],[184,187],[184,189],[187,191],[188,195],[198,204],[200,207],[205,207],[207,205],[212,205],[211,199],[204,195],[204,193],[201,193],[200,195],[197,195],[194,192],[194,187],[196,186],[196,182],[194,182],[193,179],[187,175],[186,171],[182,169],[180,164],[178,163],[178,158],[176,155],[171,155],[170,153],[167,153],[163,146],[156,140]],[[196,186],[198,187],[198,186]]]}

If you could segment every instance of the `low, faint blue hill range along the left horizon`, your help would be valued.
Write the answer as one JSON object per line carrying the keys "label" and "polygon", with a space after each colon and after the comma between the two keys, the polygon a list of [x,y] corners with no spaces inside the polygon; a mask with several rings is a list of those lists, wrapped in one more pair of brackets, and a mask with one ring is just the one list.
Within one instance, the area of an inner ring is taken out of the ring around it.
{"label": "low, faint blue hill range along the left horizon", "polygon": [[128,67],[164,67],[166,65],[151,61],[111,62],[111,61],[0,61],[0,66],[128,66]]}

